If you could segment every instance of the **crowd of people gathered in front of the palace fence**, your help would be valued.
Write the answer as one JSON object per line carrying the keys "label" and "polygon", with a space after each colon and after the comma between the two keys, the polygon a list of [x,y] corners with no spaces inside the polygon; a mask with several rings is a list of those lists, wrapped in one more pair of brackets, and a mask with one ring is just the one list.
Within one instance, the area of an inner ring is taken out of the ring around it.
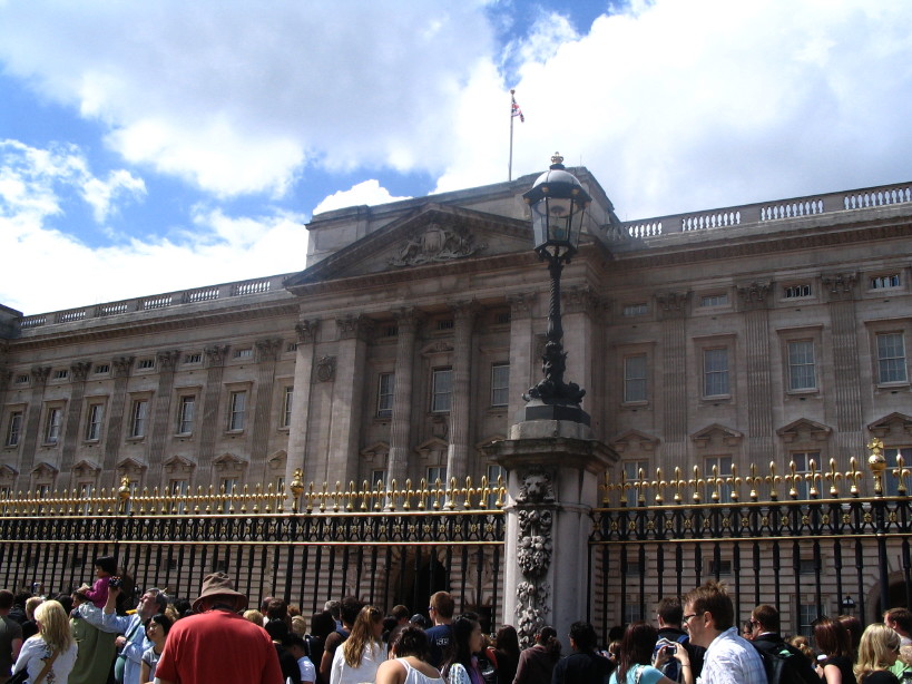
{"label": "crowd of people gathered in front of the palace fence", "polygon": [[326,602],[307,621],[265,598],[256,608],[224,573],[193,603],[134,594],[111,557],[96,580],[51,597],[0,590],[0,684],[909,684],[912,613],[892,608],[863,628],[822,617],[813,644],[781,634],[779,614],[756,606],[739,629],[725,587],[709,582],[663,598],[655,624],[616,627],[599,648],[592,625],[570,626],[570,653],[545,626],[521,649],[504,625],[482,634],[474,613],[455,615],[447,592],[428,617],[389,615],[355,597]]}

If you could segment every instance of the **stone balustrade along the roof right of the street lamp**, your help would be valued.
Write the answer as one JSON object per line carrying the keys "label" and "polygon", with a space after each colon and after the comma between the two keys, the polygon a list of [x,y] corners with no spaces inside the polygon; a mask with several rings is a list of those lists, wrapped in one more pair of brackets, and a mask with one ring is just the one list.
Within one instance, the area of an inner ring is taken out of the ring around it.
{"label": "stone balustrade along the roof right of the street lamp", "polygon": [[826,195],[758,202],[707,212],[671,214],[657,218],[629,221],[621,224],[620,233],[634,238],[656,237],[669,233],[762,224],[801,216],[883,207],[906,202],[912,202],[912,183],[880,185]]}

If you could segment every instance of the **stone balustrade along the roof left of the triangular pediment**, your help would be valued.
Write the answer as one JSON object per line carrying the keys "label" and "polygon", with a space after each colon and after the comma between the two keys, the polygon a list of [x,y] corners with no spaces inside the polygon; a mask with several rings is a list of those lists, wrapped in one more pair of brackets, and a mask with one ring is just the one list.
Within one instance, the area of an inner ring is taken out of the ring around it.
{"label": "stone balustrade along the roof left of the triangular pediment", "polygon": [[105,319],[107,316],[126,313],[151,312],[158,309],[170,309],[183,304],[195,304],[197,302],[212,302],[215,300],[227,300],[229,297],[244,297],[268,292],[281,292],[282,284],[291,274],[271,275],[251,281],[236,281],[234,283],[223,283],[220,285],[206,285],[194,290],[182,290],[177,292],[166,292],[164,294],[153,294],[131,300],[120,300],[118,302],[106,302],[104,304],[92,304],[78,309],[67,309],[65,311],[52,311],[50,313],[39,313],[24,316],[19,320],[20,330],[31,330],[42,325],[56,323],[72,323],[75,321],[88,321],[91,319]]}

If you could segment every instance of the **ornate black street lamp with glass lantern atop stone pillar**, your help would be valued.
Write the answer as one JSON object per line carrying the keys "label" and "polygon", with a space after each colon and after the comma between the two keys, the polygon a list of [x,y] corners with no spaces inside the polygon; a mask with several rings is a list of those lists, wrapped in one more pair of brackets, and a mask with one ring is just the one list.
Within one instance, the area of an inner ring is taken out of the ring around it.
{"label": "ornate black street lamp with glass lantern atop stone pillar", "polygon": [[551,168],[539,176],[532,189],[522,195],[532,209],[536,252],[548,262],[551,274],[547,343],[541,358],[545,379],[522,398],[528,402],[526,420],[569,420],[588,426],[589,416],[579,405],[586,390],[575,382],[563,381],[567,352],[561,344],[560,273],[577,252],[582,217],[592,198],[562,162],[563,157],[555,154]]}

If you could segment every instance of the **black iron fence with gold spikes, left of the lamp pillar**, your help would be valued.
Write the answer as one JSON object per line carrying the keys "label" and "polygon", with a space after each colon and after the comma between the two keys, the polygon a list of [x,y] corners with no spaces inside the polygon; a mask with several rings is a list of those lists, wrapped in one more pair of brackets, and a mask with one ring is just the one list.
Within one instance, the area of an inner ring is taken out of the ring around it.
{"label": "black iron fence with gold spikes, left of the lamp pillar", "polygon": [[254,605],[284,598],[305,615],[356,595],[383,608],[423,610],[438,589],[488,621],[502,602],[504,489],[421,482],[403,489],[296,480],[284,492],[120,490],[0,499],[0,585],[68,592],[92,580],[92,559],[116,554],[138,587],[195,598],[226,571]]}

